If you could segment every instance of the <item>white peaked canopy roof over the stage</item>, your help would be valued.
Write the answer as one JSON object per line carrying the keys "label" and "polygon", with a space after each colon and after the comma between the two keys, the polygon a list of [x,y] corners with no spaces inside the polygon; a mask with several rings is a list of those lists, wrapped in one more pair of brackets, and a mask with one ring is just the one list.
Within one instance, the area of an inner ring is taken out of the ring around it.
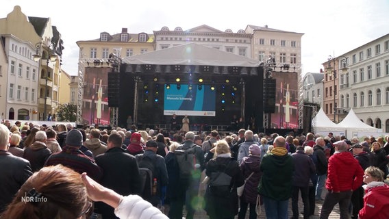
{"label": "white peaked canopy roof over the stage", "polygon": [[242,66],[258,67],[259,62],[201,44],[188,43],[158,51],[123,58],[127,64]]}

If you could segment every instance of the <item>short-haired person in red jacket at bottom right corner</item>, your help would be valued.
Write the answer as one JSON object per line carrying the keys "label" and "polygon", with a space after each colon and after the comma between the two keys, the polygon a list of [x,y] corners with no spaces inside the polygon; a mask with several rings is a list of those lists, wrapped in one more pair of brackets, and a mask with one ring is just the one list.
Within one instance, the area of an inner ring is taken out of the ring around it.
{"label": "short-haired person in red jacket at bottom right corner", "polygon": [[389,218],[389,185],[384,183],[384,172],[373,166],[366,168],[364,183],[366,194],[364,207],[358,214],[359,218]]}

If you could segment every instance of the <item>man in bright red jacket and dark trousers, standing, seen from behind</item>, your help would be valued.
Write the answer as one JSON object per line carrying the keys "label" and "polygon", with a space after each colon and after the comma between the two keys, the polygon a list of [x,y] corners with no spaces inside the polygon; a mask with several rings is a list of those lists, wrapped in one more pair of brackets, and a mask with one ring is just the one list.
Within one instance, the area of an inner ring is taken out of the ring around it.
{"label": "man in bright red jacket and dark trousers, standing, seen from behind", "polygon": [[325,196],[320,218],[328,218],[334,206],[339,203],[340,218],[349,218],[351,194],[362,185],[364,170],[357,159],[347,151],[347,143],[334,143],[335,153],[328,160]]}

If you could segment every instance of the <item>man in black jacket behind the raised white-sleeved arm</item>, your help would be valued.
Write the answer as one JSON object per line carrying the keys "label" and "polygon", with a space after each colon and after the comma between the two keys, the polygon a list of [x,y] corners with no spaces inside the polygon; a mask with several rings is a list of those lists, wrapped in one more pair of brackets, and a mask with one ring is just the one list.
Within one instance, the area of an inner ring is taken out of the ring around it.
{"label": "man in black jacket behind the raised white-sleeved arm", "polygon": [[[108,151],[97,155],[96,164],[103,169],[101,185],[121,194],[140,194],[138,163],[133,155],[121,148],[123,138],[113,133],[108,138]],[[114,208],[105,203],[96,203],[96,211],[103,218],[116,218]]]}

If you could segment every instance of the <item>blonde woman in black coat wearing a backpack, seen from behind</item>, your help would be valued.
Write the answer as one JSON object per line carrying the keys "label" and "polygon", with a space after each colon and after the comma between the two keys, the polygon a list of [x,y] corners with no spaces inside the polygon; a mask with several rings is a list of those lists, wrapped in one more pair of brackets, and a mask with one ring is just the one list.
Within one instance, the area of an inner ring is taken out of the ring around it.
{"label": "blonde woman in black coat wearing a backpack, seen from behind", "polygon": [[210,177],[205,191],[205,211],[211,219],[234,218],[238,214],[236,188],[244,183],[242,171],[231,157],[225,140],[216,142],[214,151],[216,157],[205,167],[205,174]]}

